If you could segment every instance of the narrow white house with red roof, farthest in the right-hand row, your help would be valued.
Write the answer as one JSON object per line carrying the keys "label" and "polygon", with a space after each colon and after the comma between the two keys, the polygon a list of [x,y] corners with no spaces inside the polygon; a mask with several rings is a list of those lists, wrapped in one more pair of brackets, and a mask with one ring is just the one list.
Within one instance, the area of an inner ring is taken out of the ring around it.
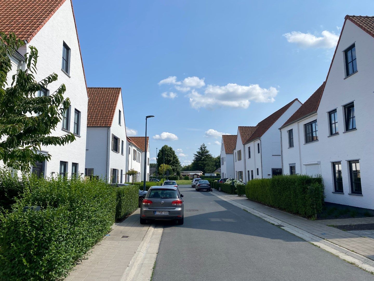
{"label": "narrow white house with red roof, farthest in the right-hand row", "polygon": [[234,148],[237,135],[222,135],[221,178],[234,178]]}

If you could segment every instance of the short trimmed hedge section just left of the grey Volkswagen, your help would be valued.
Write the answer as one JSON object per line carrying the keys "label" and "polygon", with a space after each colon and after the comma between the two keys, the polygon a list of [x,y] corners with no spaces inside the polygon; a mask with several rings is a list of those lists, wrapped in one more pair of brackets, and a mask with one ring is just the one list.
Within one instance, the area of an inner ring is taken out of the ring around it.
{"label": "short trimmed hedge section just left of the grey Volkswagen", "polygon": [[116,221],[123,220],[139,206],[139,189],[135,185],[116,187]]}

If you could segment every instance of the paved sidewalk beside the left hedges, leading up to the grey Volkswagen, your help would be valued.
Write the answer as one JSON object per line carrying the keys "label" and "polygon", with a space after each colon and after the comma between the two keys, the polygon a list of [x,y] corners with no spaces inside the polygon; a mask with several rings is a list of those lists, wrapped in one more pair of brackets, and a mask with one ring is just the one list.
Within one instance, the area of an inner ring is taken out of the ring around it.
{"label": "paved sidewalk beside the left hedges, leading up to the grey Volkswagen", "polygon": [[110,236],[96,244],[88,259],[78,263],[65,281],[119,281],[150,226],[140,224],[139,214],[140,209],[114,224]]}

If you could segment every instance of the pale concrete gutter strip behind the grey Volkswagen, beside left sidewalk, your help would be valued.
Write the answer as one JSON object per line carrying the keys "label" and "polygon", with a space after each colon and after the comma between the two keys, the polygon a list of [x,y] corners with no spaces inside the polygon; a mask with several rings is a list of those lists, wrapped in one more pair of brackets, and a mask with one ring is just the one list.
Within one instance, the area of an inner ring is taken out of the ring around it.
{"label": "pale concrete gutter strip behind the grey Volkswagen, beside left sidewalk", "polygon": [[162,232],[163,227],[150,225],[120,281],[145,281],[151,279]]}

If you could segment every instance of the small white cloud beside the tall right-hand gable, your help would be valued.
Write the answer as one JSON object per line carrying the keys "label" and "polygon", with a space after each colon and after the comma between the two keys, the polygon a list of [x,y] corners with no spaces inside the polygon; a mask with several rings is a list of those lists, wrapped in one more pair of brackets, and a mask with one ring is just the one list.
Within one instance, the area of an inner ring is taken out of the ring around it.
{"label": "small white cloud beside the tall right-hand gable", "polygon": [[317,37],[310,33],[302,33],[300,31],[292,31],[283,34],[289,43],[295,43],[300,48],[335,48],[339,36],[327,30],[322,31],[321,37]]}

